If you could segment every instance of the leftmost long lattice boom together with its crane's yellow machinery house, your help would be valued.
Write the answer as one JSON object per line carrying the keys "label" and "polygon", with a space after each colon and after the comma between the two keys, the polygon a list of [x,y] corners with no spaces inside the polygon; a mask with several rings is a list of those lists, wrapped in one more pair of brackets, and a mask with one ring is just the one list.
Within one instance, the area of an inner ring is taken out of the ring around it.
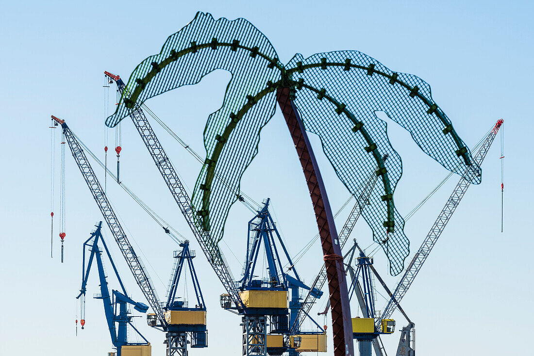
{"label": "leftmost long lattice boom together with its crane's yellow machinery house", "polygon": [[[128,267],[130,268],[130,271],[132,272],[139,288],[141,288],[145,298],[148,301],[148,304],[152,307],[152,310],[154,311],[156,319],[155,325],[154,318],[150,314],[147,315],[149,317],[149,325],[156,328],[161,327],[161,329],[166,332],[165,343],[167,345],[167,356],[172,356],[175,353],[178,353],[178,356],[186,356],[186,354],[182,355],[179,353],[180,350],[183,350],[183,347],[180,348],[172,346],[180,344],[183,341],[183,335],[175,332],[175,326],[183,326],[181,330],[189,328],[191,329],[191,333],[201,333],[198,324],[194,323],[193,325],[190,325],[188,322],[191,319],[189,318],[171,318],[171,321],[167,320],[166,313],[169,312],[169,306],[167,305],[167,310],[164,310],[162,305],[160,304],[159,298],[156,295],[156,291],[152,285],[150,276],[148,276],[148,273],[145,270],[145,266],[143,265],[141,259],[139,258],[139,256],[137,256],[135,250],[133,250],[133,247],[128,241],[128,238],[124,233],[119,219],[117,219],[115,212],[107,199],[106,192],[100,185],[100,182],[96,177],[95,171],[93,171],[91,164],[87,159],[87,156],[85,156],[85,153],[83,152],[83,148],[80,142],[77,140],[76,136],[74,135],[72,130],[70,130],[64,120],[61,120],[60,118],[53,115],[52,119],[61,125],[61,128],[63,129],[63,133],[65,135],[65,139],[69,145],[70,152],[72,153],[74,160],[76,161],[76,164],[78,165],[78,168],[80,169],[80,172],[82,173],[82,176],[85,179],[85,183],[87,183],[87,186],[89,187],[89,190],[91,191],[91,194],[93,195],[93,198],[95,199],[95,202],[97,203],[100,212],[106,220],[109,230],[111,230],[115,241],[119,245],[119,249],[121,250],[122,255],[124,256],[124,259],[126,260]],[[176,308],[179,308],[179,306],[176,305]],[[183,308],[184,309],[181,311],[184,312],[185,315],[187,310],[185,307]],[[205,310],[202,312],[205,312]],[[177,324],[174,324],[175,322]],[[206,322],[204,318],[204,328],[205,327]],[[195,347],[207,346],[205,339],[204,341],[201,341],[200,334],[196,334],[195,337],[199,337],[199,339],[197,339],[198,342],[195,341]]]}

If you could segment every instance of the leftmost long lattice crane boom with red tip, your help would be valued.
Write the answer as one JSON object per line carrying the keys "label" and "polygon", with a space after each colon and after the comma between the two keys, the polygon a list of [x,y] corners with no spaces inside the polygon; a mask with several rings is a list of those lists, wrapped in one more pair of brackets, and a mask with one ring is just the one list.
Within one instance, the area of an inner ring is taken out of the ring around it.
{"label": "leftmost long lattice crane boom with red tip", "polygon": [[145,271],[145,266],[128,241],[128,238],[124,233],[121,224],[119,223],[119,219],[117,219],[111,204],[107,200],[106,193],[104,192],[104,189],[100,185],[100,182],[95,175],[95,171],[93,171],[87,156],[85,156],[85,153],[83,152],[82,146],[64,120],[61,120],[53,115],[52,118],[57,123],[61,124],[61,128],[63,129],[65,138],[70,148],[70,152],[72,153],[72,156],[74,157],[74,160],[76,161],[76,164],[78,165],[78,168],[85,179],[85,183],[87,183],[87,186],[89,187],[89,190],[91,191],[91,194],[93,195],[100,212],[104,216],[104,219],[109,226],[109,230],[111,230],[117,245],[119,245],[119,249],[124,256],[124,259],[126,260],[133,277],[135,278],[138,286],[141,288],[148,304],[152,307],[154,313],[158,315],[158,319],[160,320],[161,324],[165,326],[166,321],[163,309],[159,303],[156,291],[152,286],[150,276],[148,276],[147,272]]}

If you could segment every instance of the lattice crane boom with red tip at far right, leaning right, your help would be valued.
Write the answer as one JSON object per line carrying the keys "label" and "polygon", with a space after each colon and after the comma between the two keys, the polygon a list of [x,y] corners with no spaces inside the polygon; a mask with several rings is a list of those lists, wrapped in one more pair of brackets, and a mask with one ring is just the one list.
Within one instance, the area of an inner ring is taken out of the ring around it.
{"label": "lattice crane boom with red tip at far right, leaning right", "polygon": [[460,181],[456,185],[456,188],[454,188],[454,191],[449,197],[449,200],[445,203],[445,207],[443,208],[441,213],[439,213],[439,216],[437,217],[434,225],[430,229],[430,232],[428,233],[426,239],[421,244],[421,247],[413,257],[412,262],[410,262],[410,265],[406,268],[406,271],[404,272],[402,279],[400,279],[400,282],[398,283],[395,292],[391,296],[388,305],[384,309],[381,318],[376,321],[376,325],[379,325],[382,319],[388,319],[391,316],[391,314],[397,308],[400,300],[406,294],[408,288],[410,288],[413,280],[415,279],[415,276],[421,269],[423,263],[425,263],[425,260],[427,259],[428,255],[430,254],[430,251],[434,247],[434,244],[443,232],[445,225],[447,225],[447,223],[449,222],[452,213],[454,212],[454,210],[456,210],[456,207],[458,207],[460,200],[466,193],[467,188],[469,188],[469,185],[471,185],[473,179],[477,175],[480,175],[480,165],[482,164],[482,161],[484,161],[484,158],[488,153],[491,144],[493,143],[493,140],[497,136],[497,132],[499,131],[499,128],[503,122],[504,120],[499,120],[493,126],[493,129],[482,143],[482,146],[478,149],[476,155],[473,157],[474,164],[467,167],[464,173],[462,174]]}

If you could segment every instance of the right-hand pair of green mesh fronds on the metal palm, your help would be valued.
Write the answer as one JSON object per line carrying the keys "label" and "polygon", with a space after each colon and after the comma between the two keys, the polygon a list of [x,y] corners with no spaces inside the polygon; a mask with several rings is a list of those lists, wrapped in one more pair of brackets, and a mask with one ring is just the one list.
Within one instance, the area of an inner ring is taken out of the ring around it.
{"label": "right-hand pair of green mesh fronds on the metal palm", "polygon": [[[392,197],[389,194],[402,175],[402,161],[389,142],[386,122],[375,113],[385,112],[411,133],[425,153],[460,174],[464,159],[456,151],[465,144],[456,133],[443,132],[451,123],[439,107],[430,109],[435,104],[427,83],[414,75],[392,72],[364,53],[318,53],[307,59],[297,54],[286,71],[293,81],[300,83],[294,102],[306,130],[320,137],[337,176],[351,193],[356,196],[361,193],[365,177],[362,173],[376,167],[377,157],[389,154],[385,163],[387,174],[382,175],[381,184],[374,189],[363,217],[373,230],[373,239],[381,243],[388,255],[391,274],[400,273],[409,254],[409,240],[403,232],[403,218],[393,200],[387,199]],[[391,80],[393,77],[395,80]],[[362,128],[353,130],[358,122],[363,124]],[[376,151],[367,152],[366,147],[368,150],[372,144]],[[390,211],[388,203],[392,205]],[[387,233],[384,229],[384,217],[395,221],[394,231]]]}

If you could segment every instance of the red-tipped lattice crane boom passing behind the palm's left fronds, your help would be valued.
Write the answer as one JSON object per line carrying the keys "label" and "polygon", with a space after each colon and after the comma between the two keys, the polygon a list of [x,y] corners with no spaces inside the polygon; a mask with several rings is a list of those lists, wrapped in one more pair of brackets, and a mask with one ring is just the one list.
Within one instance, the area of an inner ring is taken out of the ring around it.
{"label": "red-tipped lattice crane boom passing behind the palm's left fronds", "polygon": [[[111,74],[109,72],[104,72],[109,78],[115,81],[117,84],[117,90],[122,94],[124,101],[128,101],[129,93],[126,85],[118,75]],[[234,303],[238,306],[241,305],[241,299],[239,298],[238,290],[235,287],[233,282],[232,274],[224,260],[224,256],[219,250],[217,243],[213,241],[209,232],[202,229],[202,224],[200,223],[197,215],[193,211],[191,206],[191,200],[185,191],[185,188],[180,181],[178,174],[169,160],[169,157],[165,153],[163,147],[156,137],[152,126],[148,122],[143,110],[140,105],[135,102],[131,109],[128,109],[129,115],[133,121],[133,124],[136,126],[139,135],[143,139],[143,142],[150,152],[156,167],[158,167],[161,176],[167,183],[169,190],[176,200],[180,211],[182,211],[187,224],[191,228],[195,238],[200,244],[200,248],[206,255],[208,262],[211,267],[214,269],[219,280],[223,283],[224,288],[232,296]]]}

